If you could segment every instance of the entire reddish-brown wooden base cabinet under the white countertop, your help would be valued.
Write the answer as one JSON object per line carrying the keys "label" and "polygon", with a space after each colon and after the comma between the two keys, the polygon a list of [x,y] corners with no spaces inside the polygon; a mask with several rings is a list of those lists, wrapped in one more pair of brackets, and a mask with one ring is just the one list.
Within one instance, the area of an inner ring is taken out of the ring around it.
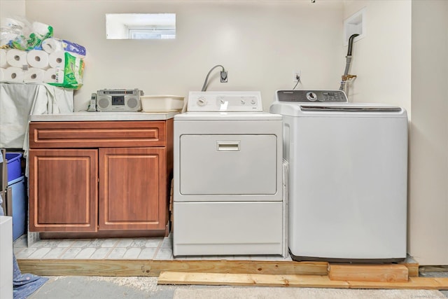
{"label": "entire reddish-brown wooden base cabinet under the white countertop", "polygon": [[172,119],[31,122],[29,230],[165,234],[172,130]]}

